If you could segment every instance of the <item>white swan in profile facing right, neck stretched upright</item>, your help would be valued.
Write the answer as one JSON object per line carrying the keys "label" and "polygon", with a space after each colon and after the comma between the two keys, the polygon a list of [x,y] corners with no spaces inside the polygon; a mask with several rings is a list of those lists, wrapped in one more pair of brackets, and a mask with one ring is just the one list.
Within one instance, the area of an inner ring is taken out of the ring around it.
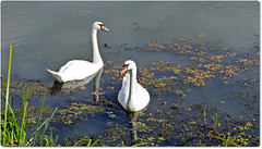
{"label": "white swan in profile facing right, neck stretched upright", "polygon": [[102,22],[94,22],[92,26],[92,44],[93,44],[93,62],[85,60],[72,60],[63,65],[59,72],[53,72],[47,69],[49,73],[59,83],[66,83],[71,80],[80,80],[85,77],[95,74],[103,67],[104,63],[99,53],[97,44],[97,30],[103,29],[109,32],[108,28]]}

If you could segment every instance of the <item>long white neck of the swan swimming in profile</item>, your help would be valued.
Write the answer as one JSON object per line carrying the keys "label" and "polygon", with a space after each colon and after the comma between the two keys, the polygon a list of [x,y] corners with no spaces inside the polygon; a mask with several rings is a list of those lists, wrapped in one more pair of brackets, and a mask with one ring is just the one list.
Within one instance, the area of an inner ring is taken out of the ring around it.
{"label": "long white neck of the swan swimming in profile", "polygon": [[97,30],[96,29],[92,29],[92,45],[93,45],[93,63],[103,65],[103,60],[102,60],[99,49],[98,49]]}

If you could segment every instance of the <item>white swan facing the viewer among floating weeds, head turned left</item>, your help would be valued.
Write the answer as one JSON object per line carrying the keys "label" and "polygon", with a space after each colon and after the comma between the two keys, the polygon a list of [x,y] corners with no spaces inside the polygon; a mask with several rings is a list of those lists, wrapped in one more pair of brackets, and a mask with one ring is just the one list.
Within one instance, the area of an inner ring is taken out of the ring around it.
{"label": "white swan facing the viewer among floating weeds, head turned left", "polygon": [[136,65],[132,60],[123,64],[121,74],[126,73],[122,79],[122,88],[118,94],[118,101],[127,111],[140,111],[150,102],[150,94],[136,80]]}

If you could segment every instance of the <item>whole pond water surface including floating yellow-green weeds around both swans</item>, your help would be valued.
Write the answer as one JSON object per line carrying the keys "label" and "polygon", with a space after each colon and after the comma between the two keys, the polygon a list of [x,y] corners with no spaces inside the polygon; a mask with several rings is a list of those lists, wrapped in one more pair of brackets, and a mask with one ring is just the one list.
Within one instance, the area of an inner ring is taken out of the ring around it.
{"label": "whole pond water surface including floating yellow-green weeds around both swans", "polygon": [[[195,146],[198,139],[184,139],[207,135],[211,127],[215,132],[214,125],[222,135],[249,123],[245,135],[259,136],[259,2],[2,2],[1,9],[1,75],[7,76],[12,44],[13,86],[31,88],[33,107],[47,91],[47,111],[59,109],[50,126],[59,141],[75,131],[79,136],[95,132],[110,146],[129,141],[129,120],[117,101],[117,71],[128,59],[136,62],[139,82],[151,94],[147,109],[136,117],[138,132],[131,133],[139,142]],[[55,89],[55,95],[46,69],[90,60],[94,21],[110,29],[98,33],[106,62],[100,79],[94,76],[76,89],[58,84],[63,89]],[[98,102],[94,88],[100,94]],[[19,91],[14,101],[19,107]]]}

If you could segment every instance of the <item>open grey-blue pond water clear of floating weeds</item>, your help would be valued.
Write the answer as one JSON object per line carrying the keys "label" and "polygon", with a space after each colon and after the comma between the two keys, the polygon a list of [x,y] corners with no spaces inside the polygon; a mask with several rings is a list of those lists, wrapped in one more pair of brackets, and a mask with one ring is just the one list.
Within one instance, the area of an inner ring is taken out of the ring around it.
{"label": "open grey-blue pond water clear of floating weeds", "polygon": [[[158,61],[181,66],[193,64],[187,59],[188,55],[181,57],[167,51],[140,52],[136,50],[146,47],[150,41],[174,42],[174,38],[178,37],[191,38],[204,34],[205,36],[200,38],[200,41],[219,42],[225,48],[250,54],[251,51],[258,51],[260,47],[260,5],[255,1],[4,1],[1,3],[1,75],[7,76],[9,45],[12,44],[12,79],[37,82],[49,88],[53,85],[53,78],[46,69],[59,70],[69,60],[90,60],[92,58],[90,26],[94,21],[102,21],[110,29],[109,33],[98,33],[98,44],[104,62],[111,61],[115,66],[121,66],[128,59],[134,60],[136,65],[143,69],[148,69],[153,62]],[[105,47],[105,44],[108,47]],[[110,70],[107,66],[105,69]],[[196,103],[206,103],[207,107],[218,108],[234,119],[249,115],[259,120],[258,108],[250,110],[242,100],[230,100],[233,92],[247,90],[239,85],[251,79],[259,80],[258,67],[251,73],[241,73],[235,76],[234,83],[238,82],[239,84],[228,85],[219,79],[212,79],[203,87],[189,86],[191,91],[182,100],[168,94],[160,98],[165,98],[167,103],[170,103],[169,107],[176,100],[180,101],[179,108],[182,109]],[[90,134],[91,131],[103,134],[108,121],[129,127],[127,115],[116,99],[121,82],[119,80],[117,85],[112,85],[111,82],[111,76],[103,73],[100,88],[106,94],[100,98],[114,103],[111,110],[114,110],[114,114],[117,114],[117,119],[110,119],[108,114],[104,113],[95,114],[88,121],[81,121],[73,128],[68,125],[63,127],[57,125],[55,134],[61,136],[60,140],[75,129],[81,132],[80,134]],[[110,86],[114,86],[115,89],[108,89]],[[85,87],[87,89],[59,92],[53,97],[48,97],[46,104],[52,109],[60,107],[61,102],[75,101],[93,104],[94,83],[91,82]],[[254,88],[258,92],[259,83],[254,85]],[[148,91],[153,92],[150,88]],[[251,92],[253,92],[252,89]],[[154,94],[151,94],[151,97],[152,101],[145,114],[162,107],[158,104],[162,102],[159,97]],[[257,96],[255,99],[258,98]],[[222,101],[226,103],[222,104]],[[259,104],[258,100],[255,101]],[[31,103],[38,105],[40,99],[32,100]],[[165,145],[172,146],[167,142]]]}

